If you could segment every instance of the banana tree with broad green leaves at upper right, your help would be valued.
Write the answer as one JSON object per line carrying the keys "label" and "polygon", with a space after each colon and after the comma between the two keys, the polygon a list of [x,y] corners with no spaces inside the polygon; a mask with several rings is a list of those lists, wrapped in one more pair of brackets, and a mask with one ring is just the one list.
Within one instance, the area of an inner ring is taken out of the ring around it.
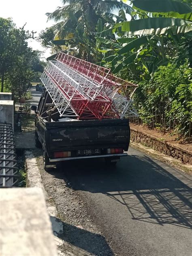
{"label": "banana tree with broad green leaves at upper right", "polygon": [[[113,73],[136,64],[138,69],[143,69],[145,76],[149,76],[158,66],[169,63],[167,50],[170,45],[176,54],[181,36],[192,33],[192,8],[171,0],[164,1],[164,4],[158,0],[133,0],[132,7],[132,15],[137,19],[115,23],[110,30],[97,34],[98,40],[103,38],[105,43],[109,32],[114,33],[121,48],[116,47],[112,55],[107,53],[103,61]],[[118,38],[119,28],[124,33],[121,38]]]}

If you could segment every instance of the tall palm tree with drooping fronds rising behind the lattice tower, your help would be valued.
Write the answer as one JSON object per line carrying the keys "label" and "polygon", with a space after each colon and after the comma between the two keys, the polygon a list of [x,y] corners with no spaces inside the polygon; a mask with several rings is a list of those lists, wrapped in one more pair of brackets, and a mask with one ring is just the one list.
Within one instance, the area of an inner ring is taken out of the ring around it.
{"label": "tall palm tree with drooping fronds rising behind the lattice tower", "polygon": [[48,20],[58,22],[53,26],[55,40],[65,39],[62,44],[75,49],[79,57],[88,60],[91,54],[98,57],[94,35],[99,19],[102,23],[105,13],[115,14],[122,10],[130,14],[132,11],[122,0],[62,0],[62,4],[53,13],[47,13]]}

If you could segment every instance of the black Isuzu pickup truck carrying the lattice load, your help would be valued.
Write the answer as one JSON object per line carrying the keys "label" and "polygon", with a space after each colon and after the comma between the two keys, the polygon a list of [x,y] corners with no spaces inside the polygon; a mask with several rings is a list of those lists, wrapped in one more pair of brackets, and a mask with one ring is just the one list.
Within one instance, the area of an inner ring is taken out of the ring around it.
{"label": "black Isuzu pickup truck carrying the lattice load", "polygon": [[115,165],[121,156],[127,156],[124,150],[128,150],[130,142],[128,119],[54,122],[52,118],[57,120],[56,115],[47,115],[51,104],[43,102],[45,94],[38,107],[31,107],[36,113],[36,147],[43,147],[45,171],[67,160],[105,158],[107,164]]}

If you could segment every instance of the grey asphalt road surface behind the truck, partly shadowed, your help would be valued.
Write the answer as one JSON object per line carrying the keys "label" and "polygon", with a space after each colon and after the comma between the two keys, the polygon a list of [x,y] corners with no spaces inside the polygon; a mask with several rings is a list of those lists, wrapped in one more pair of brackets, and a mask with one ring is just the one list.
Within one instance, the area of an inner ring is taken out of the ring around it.
{"label": "grey asphalt road surface behind the truck, partly shadowed", "polygon": [[116,169],[102,161],[66,162],[94,222],[118,255],[192,255],[192,179],[130,148]]}

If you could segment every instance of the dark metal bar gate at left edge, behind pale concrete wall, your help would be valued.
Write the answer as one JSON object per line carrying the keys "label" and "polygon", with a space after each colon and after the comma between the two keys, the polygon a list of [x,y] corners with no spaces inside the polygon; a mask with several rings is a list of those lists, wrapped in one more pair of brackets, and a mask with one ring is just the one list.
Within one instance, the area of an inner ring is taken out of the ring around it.
{"label": "dark metal bar gate at left edge, behind pale concrete wall", "polygon": [[17,172],[12,125],[0,123],[0,188],[15,186],[18,182]]}

